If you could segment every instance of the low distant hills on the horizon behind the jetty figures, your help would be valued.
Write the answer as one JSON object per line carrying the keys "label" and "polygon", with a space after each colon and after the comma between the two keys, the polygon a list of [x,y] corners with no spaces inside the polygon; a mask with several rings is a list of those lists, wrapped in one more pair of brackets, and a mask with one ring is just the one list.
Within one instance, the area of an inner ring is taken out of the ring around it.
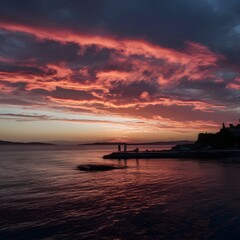
{"label": "low distant hills on the horizon behind the jetty figures", "polygon": [[[161,141],[161,142],[141,142],[141,143],[127,143],[127,145],[176,145],[176,144],[191,144],[193,141],[180,140],[180,141]],[[124,142],[95,142],[95,143],[84,143],[79,144],[79,146],[89,146],[89,145],[119,145],[124,144]]]}

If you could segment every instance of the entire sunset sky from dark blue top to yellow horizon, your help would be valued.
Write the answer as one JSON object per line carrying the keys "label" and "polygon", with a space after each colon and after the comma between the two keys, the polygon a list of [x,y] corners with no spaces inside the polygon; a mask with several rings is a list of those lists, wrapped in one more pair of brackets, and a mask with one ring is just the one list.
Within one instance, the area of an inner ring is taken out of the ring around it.
{"label": "entire sunset sky from dark blue top to yellow horizon", "polygon": [[195,140],[239,113],[239,0],[0,0],[1,140]]}

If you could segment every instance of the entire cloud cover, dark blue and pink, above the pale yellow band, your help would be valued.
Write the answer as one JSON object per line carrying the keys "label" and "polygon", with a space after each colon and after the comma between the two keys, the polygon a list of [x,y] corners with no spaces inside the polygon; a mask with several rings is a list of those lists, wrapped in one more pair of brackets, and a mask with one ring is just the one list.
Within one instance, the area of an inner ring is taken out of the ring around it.
{"label": "entire cloud cover, dark blue and pink, above the pale yellow band", "polygon": [[0,89],[22,101],[176,121],[237,115],[237,0],[0,0],[0,23]]}

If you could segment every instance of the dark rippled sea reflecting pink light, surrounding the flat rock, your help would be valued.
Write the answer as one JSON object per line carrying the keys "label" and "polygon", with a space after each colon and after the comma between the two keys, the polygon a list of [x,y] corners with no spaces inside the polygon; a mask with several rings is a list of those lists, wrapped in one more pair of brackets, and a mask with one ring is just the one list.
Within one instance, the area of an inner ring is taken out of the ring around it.
{"label": "dark rippled sea reflecting pink light, surrounding the flat rock", "polygon": [[123,160],[111,147],[1,147],[0,239],[240,239],[240,163]]}

